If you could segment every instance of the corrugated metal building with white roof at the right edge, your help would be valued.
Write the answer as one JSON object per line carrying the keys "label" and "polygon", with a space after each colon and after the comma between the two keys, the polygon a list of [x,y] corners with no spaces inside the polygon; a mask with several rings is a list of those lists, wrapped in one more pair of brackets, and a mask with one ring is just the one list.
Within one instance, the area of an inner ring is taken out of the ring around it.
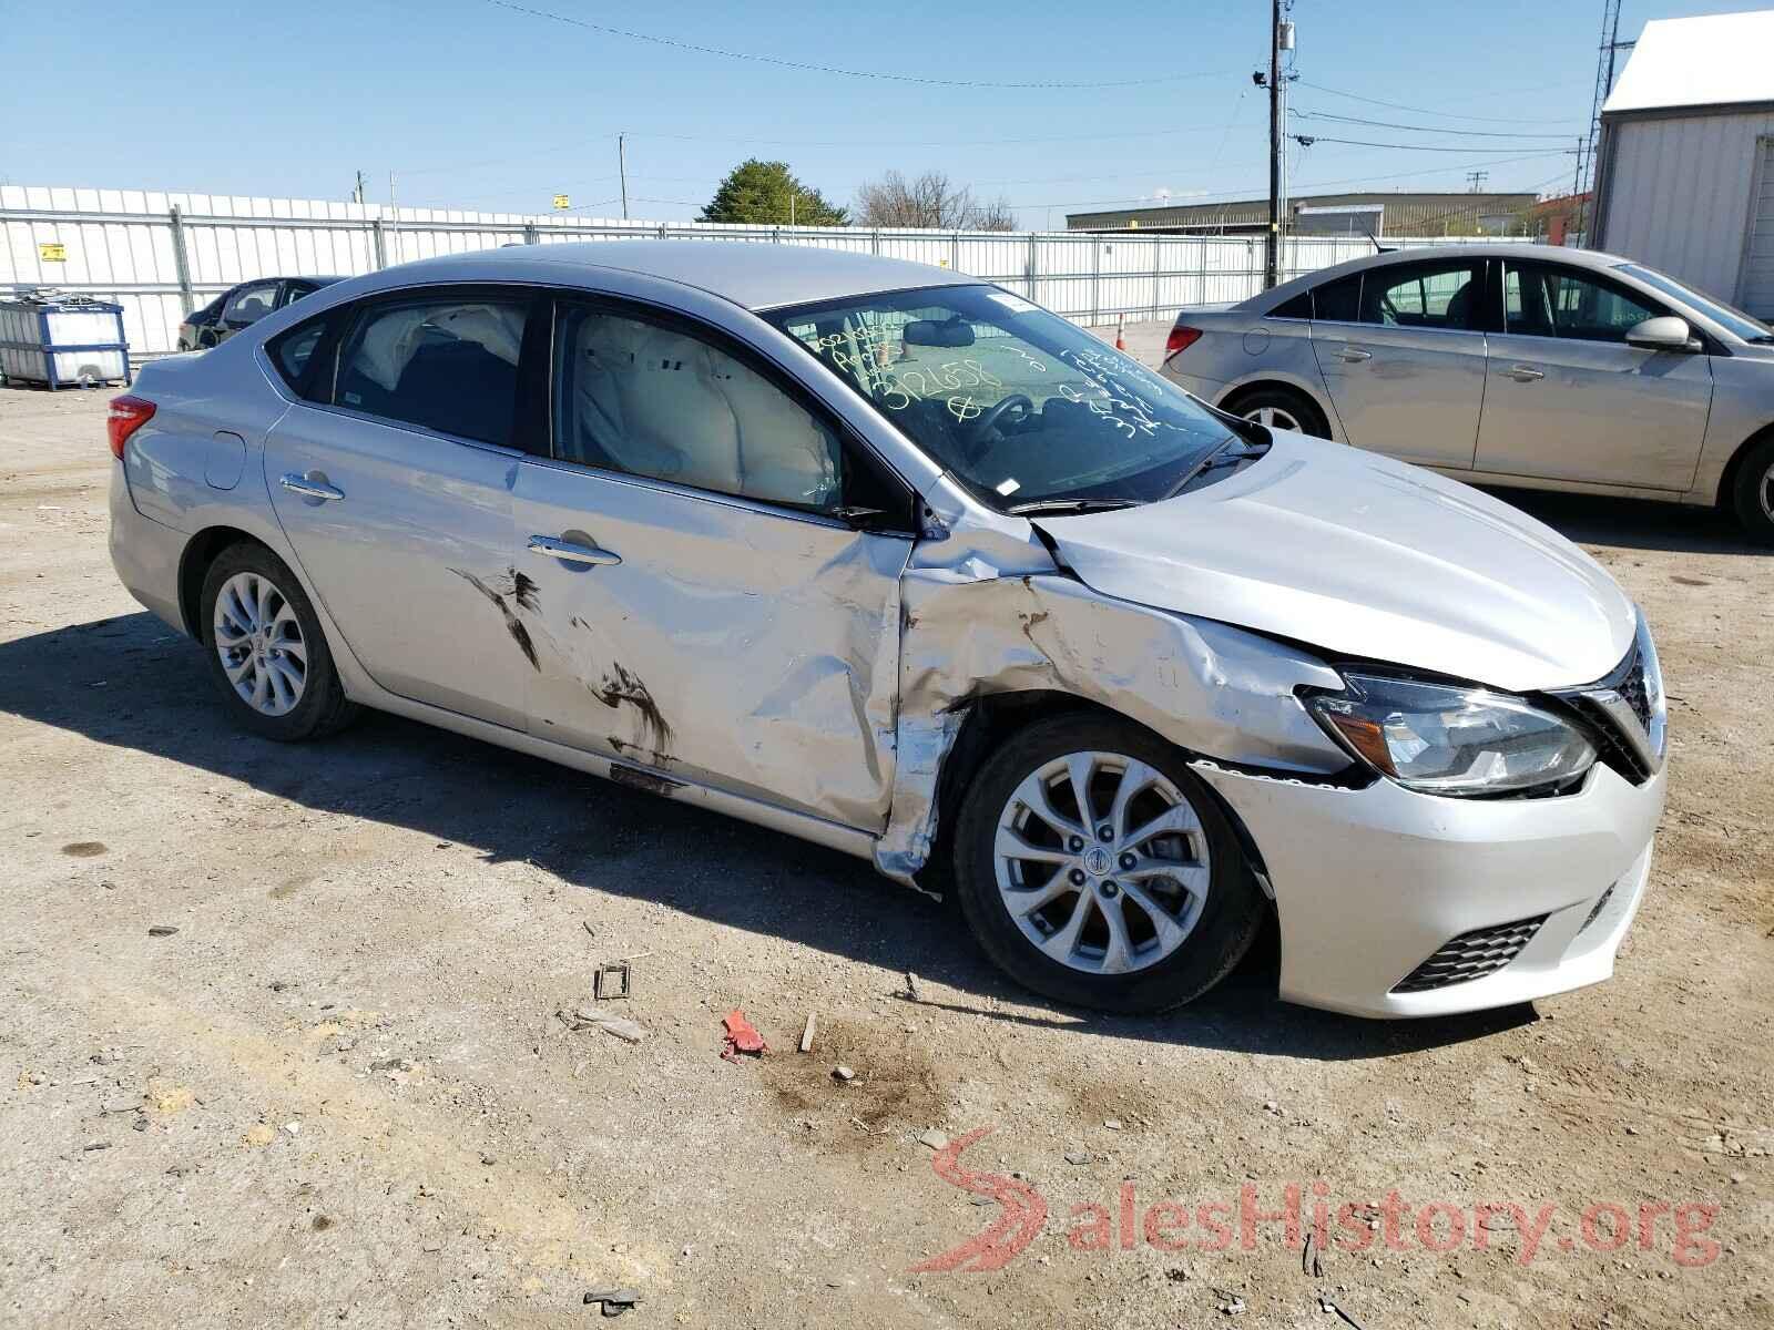
{"label": "corrugated metal building with white roof at the right edge", "polygon": [[1646,23],[1597,163],[1595,248],[1774,316],[1774,9]]}

